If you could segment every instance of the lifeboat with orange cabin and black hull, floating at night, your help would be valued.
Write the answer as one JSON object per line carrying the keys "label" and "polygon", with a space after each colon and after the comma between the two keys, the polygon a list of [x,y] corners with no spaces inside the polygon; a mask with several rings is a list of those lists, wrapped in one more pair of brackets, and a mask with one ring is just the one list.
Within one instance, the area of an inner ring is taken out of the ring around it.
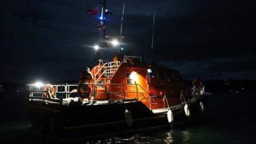
{"label": "lifeboat with orange cabin and black hull, floating at night", "polygon": [[81,100],[78,84],[51,84],[55,99],[42,96],[44,85],[30,84],[31,127],[57,137],[93,137],[172,126],[202,112],[201,100],[191,96],[177,70],[127,55],[123,61],[100,63],[91,70],[94,83],[88,84],[93,100]]}

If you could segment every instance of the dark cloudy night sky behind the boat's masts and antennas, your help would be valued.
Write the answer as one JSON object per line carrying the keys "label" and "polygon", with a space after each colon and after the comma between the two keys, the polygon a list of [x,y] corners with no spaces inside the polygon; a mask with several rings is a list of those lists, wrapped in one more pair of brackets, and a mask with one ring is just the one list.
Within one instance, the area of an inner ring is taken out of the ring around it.
{"label": "dark cloudy night sky behind the boat's masts and antennas", "polygon": [[[1,1],[0,82],[78,81],[94,65],[99,1]],[[186,79],[256,79],[255,2],[108,0],[107,35],[117,36],[125,2],[124,49],[154,58]],[[101,49],[111,60],[113,47]]]}

